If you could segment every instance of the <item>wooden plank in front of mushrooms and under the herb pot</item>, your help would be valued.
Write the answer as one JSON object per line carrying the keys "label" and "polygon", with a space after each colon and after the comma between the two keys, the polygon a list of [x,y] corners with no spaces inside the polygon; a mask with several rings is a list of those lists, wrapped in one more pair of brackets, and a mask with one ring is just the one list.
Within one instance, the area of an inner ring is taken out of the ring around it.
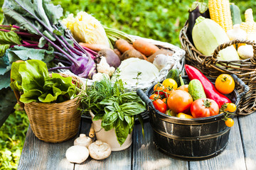
{"label": "wooden plank in front of mushrooms and under the herb pot", "polygon": [[[90,122],[88,120],[82,121],[82,128],[80,133],[89,134]],[[75,164],[75,170],[78,169],[131,169],[132,162],[132,147],[129,147],[123,151],[112,152],[110,157],[103,160],[95,160],[90,157],[82,164]]]}

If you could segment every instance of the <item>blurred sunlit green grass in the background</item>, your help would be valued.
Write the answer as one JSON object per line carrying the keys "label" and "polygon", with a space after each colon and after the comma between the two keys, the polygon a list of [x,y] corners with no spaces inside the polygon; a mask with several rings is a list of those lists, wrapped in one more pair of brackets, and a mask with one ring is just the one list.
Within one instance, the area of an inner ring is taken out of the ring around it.
{"label": "blurred sunlit green grass in the background", "polygon": [[[53,0],[53,4],[60,4],[65,11],[65,16],[68,13],[86,11],[110,28],[180,46],[179,30],[188,18],[187,11],[193,1]],[[230,2],[234,2],[240,7],[243,20],[245,10],[256,7],[254,0]],[[0,6],[3,3],[4,1],[1,0]],[[1,11],[0,21],[2,18]],[[9,116],[6,123],[0,128],[0,169],[17,168],[27,128],[26,113],[18,109]]]}

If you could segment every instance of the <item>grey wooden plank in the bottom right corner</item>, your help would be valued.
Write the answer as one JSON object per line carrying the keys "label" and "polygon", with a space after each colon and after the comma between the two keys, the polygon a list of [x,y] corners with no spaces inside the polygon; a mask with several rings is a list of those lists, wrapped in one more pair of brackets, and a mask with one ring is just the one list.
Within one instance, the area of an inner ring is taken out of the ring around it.
{"label": "grey wooden plank in the bottom right corner", "polygon": [[247,170],[256,169],[256,113],[238,118]]}

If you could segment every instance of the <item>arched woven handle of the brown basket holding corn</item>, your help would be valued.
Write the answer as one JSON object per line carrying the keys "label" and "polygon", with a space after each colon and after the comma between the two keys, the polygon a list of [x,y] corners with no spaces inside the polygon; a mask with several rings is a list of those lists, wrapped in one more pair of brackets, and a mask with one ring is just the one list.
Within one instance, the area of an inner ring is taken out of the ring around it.
{"label": "arched woven handle of the brown basket holding corn", "polygon": [[[252,45],[252,47],[253,47],[253,58],[256,61],[256,43],[252,42],[250,40],[238,40],[238,39],[237,40],[232,40],[232,41],[229,41],[229,42],[225,42],[224,44],[219,45],[213,52],[213,59],[217,58],[220,50],[223,50],[228,46],[235,45],[235,44],[240,44],[240,43],[247,44],[247,45]],[[253,63],[255,63],[255,62],[253,62]]]}

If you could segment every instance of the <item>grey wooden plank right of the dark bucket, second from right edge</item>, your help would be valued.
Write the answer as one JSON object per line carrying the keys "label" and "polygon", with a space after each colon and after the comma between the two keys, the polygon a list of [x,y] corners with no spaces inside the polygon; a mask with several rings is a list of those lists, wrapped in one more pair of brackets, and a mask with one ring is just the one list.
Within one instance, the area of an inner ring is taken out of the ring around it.
{"label": "grey wooden plank right of the dark bucket, second from right edge", "polygon": [[245,158],[242,150],[242,141],[238,125],[235,118],[235,125],[230,130],[229,143],[225,150],[217,157],[200,162],[189,162],[191,170],[197,169],[246,169]]}

